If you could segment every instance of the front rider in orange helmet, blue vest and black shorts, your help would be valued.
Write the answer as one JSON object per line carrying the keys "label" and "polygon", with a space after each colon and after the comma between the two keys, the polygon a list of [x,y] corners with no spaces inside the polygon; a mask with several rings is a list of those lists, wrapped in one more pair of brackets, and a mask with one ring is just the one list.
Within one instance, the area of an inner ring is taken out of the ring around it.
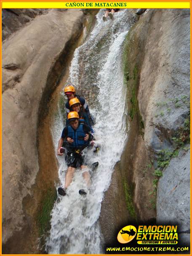
{"label": "front rider in orange helmet, blue vest and black shorts", "polygon": [[[67,162],[67,173],[65,175],[65,187],[64,189],[59,187],[58,193],[60,195],[66,195],[67,187],[69,187],[72,182],[73,174],[75,169],[80,166],[83,173],[83,178],[85,179],[88,187],[90,186],[90,174],[86,163],[84,162],[84,157],[81,155],[81,151],[88,146],[89,142],[93,139],[91,135],[91,128],[86,124],[80,124],[79,115],[77,112],[72,111],[68,114],[69,126],[63,129],[61,138],[58,143],[57,154],[62,155],[62,145],[64,139],[67,139],[67,156],[65,158]],[[79,190],[80,195],[86,195],[85,190]]]}

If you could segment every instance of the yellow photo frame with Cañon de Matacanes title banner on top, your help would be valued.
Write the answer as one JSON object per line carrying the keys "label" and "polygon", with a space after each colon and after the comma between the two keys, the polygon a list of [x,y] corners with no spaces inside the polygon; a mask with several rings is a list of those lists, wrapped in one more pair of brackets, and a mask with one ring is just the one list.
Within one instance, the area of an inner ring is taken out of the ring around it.
{"label": "yellow photo frame with Ca\u00f1on de Matacanes title banner on top", "polygon": [[[191,3],[192,0],[189,1],[166,1],[166,0],[162,0],[162,1],[155,1],[155,0],[148,0],[148,1],[137,1],[137,0],[132,0],[132,1],[128,1],[128,0],[123,0],[120,1],[121,3],[127,3],[127,7],[126,8],[190,8],[191,10]],[[0,0],[0,11],[1,11],[1,17],[0,17],[0,24],[1,24],[1,28],[2,28],[2,9],[3,8],[80,8],[80,7],[69,7],[67,6],[67,3],[84,3],[85,4],[85,8],[99,8],[100,7],[96,7],[95,3],[118,3],[118,1],[91,1],[91,0],[82,0],[82,1],[72,1],[72,0],[68,0],[68,1],[9,1],[9,0]],[[93,3],[93,6],[89,7],[86,6],[86,3]],[[125,8],[125,7],[118,7],[118,8]],[[192,24],[192,14],[190,13],[190,21]],[[190,30],[190,38],[192,35],[192,29]],[[190,58],[192,59],[192,46],[191,46],[192,40],[190,40]],[[1,52],[2,52],[2,33],[1,33],[1,40],[0,40],[0,47],[1,47]],[[192,61],[191,61],[192,62]],[[0,82],[1,82],[1,86],[0,86],[0,127],[1,127],[1,132],[0,132],[0,146],[1,146],[1,154],[0,154],[0,171],[1,171],[1,175],[0,175],[0,192],[2,195],[2,57],[0,58]],[[190,63],[190,77],[192,76],[192,71],[191,71],[191,63]],[[192,91],[191,91],[191,82],[190,82],[190,97],[192,97]],[[190,101],[190,111],[192,110],[192,104]],[[192,120],[190,120],[190,130],[192,128]],[[192,138],[190,138],[190,143],[192,144]],[[192,154],[192,153],[191,153]],[[191,172],[191,168],[192,168],[192,155],[190,155],[190,172]],[[191,188],[191,192],[190,192],[190,196],[192,198],[192,179],[190,179],[190,188]],[[192,209],[192,200],[190,198],[190,207]],[[2,200],[0,197],[0,256],[26,256],[29,254],[2,254]],[[190,217],[191,218],[191,217]],[[192,222],[191,222],[191,227],[192,227]],[[192,228],[191,228],[192,229]],[[192,231],[191,231],[192,232]],[[192,242],[192,234],[191,234],[191,242]],[[190,244],[190,254],[182,254],[182,255],[186,255],[186,256],[192,256],[192,244]],[[73,255],[73,254],[33,254],[34,256],[42,256],[42,255],[54,255],[54,256],[58,256],[58,255]],[[94,254],[78,254],[78,255],[94,255]],[[97,255],[106,255],[106,254],[97,254]],[[118,254],[108,254],[108,255],[118,255]],[[136,254],[120,254],[120,255],[136,255]],[[141,256],[149,256],[149,255],[164,255],[165,254],[139,254]],[[174,255],[174,254],[169,254],[169,255]],[[177,254],[179,256],[179,254]]]}

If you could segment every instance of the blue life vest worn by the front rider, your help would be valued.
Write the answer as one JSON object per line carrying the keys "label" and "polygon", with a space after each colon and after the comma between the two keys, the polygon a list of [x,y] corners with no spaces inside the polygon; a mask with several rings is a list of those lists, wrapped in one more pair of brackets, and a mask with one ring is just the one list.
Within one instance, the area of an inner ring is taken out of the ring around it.
{"label": "blue life vest worn by the front rider", "polygon": [[74,140],[73,143],[70,143],[70,146],[73,148],[80,148],[82,146],[88,145],[88,141],[85,141],[86,133],[83,130],[83,124],[80,124],[79,127],[74,130],[70,125],[68,126],[67,137]]}

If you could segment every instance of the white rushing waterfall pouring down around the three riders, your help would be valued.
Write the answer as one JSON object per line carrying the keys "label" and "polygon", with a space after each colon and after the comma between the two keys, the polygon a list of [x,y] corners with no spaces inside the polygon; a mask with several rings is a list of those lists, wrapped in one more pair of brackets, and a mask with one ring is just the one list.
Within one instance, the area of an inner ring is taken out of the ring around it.
{"label": "white rushing waterfall pouring down around the three riders", "polygon": [[[77,91],[83,87],[82,80],[90,91],[92,88],[99,91],[97,104],[88,103],[93,106],[90,112],[96,118],[95,137],[101,148],[97,154],[90,150],[87,152],[88,165],[98,161],[99,166],[91,173],[91,188],[86,197],[78,193],[85,187],[80,170],[75,172],[67,195],[58,197],[51,212],[51,231],[46,242],[46,250],[51,254],[104,253],[98,222],[101,202],[126,140],[126,88],[121,52],[131,23],[128,12],[119,11],[114,20],[103,22],[104,10],[100,10],[91,35],[74,53],[69,82],[75,85]],[[100,41],[102,44],[99,44]],[[60,113],[53,127],[55,150],[64,128],[62,119]],[[58,157],[58,160],[60,185],[64,186],[67,165],[64,156]]]}

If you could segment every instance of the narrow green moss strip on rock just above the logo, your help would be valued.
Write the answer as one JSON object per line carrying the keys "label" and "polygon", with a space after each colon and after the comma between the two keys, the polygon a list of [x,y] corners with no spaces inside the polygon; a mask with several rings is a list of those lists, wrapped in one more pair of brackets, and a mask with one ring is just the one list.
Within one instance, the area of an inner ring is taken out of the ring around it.
{"label": "narrow green moss strip on rock just above the logo", "polygon": [[125,201],[126,201],[127,209],[131,217],[133,217],[136,220],[135,209],[133,206],[133,195],[131,192],[131,188],[128,186],[128,182],[125,179],[123,180],[123,189],[125,193]]}

